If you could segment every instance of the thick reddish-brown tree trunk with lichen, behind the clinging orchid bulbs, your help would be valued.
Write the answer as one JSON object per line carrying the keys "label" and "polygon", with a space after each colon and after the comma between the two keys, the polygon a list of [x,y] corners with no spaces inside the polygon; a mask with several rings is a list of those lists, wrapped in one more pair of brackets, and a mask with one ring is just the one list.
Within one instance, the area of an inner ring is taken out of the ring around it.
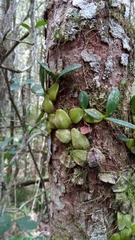
{"label": "thick reddish-brown tree trunk with lichen, behind the clinging orchid bulbs", "polygon": [[[109,92],[118,88],[121,101],[113,117],[130,120],[132,9],[132,1],[48,1],[46,61],[49,68],[60,73],[71,64],[82,64],[61,80],[55,110],[68,112],[78,107],[78,95],[85,91],[90,98],[90,108],[105,113]],[[67,166],[65,161],[72,144],[60,143],[52,132],[49,174],[53,240],[107,240],[113,234],[112,229],[116,229],[115,213],[121,205],[117,206],[111,181],[101,181],[99,176],[118,172],[120,176],[125,166],[128,169],[132,155],[118,136],[132,131],[105,120],[97,124],[81,121],[71,126],[78,130],[84,129],[82,127],[88,131],[90,161],[96,153],[103,161],[97,167]]]}

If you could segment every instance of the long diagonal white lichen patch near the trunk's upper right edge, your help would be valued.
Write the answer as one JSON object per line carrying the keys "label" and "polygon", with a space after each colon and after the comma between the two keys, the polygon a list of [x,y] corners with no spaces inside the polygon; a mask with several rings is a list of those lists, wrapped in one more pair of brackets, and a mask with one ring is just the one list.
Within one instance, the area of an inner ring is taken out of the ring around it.
{"label": "long diagonal white lichen patch near the trunk's upper right edge", "polygon": [[130,38],[126,35],[123,27],[116,23],[113,19],[110,20],[110,33],[114,38],[119,38],[123,41],[123,48],[131,50],[129,45]]}

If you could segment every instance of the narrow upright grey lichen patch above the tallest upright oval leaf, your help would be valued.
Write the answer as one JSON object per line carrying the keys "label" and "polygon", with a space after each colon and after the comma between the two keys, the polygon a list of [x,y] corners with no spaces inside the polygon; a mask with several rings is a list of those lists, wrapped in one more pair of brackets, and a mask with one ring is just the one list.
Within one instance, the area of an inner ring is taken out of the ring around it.
{"label": "narrow upright grey lichen patch above the tallest upright oval leaf", "polygon": [[112,56],[109,55],[107,57],[107,61],[105,63],[105,71],[103,73],[102,79],[103,80],[108,79],[110,77],[111,73],[113,72],[113,70],[114,70],[114,63],[112,60]]}

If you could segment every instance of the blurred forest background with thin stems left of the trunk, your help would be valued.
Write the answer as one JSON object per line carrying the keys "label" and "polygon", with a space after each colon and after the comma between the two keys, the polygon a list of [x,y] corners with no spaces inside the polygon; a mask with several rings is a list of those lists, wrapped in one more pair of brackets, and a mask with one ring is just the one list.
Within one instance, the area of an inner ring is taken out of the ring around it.
{"label": "blurred forest background with thin stems left of the trunk", "polygon": [[44,9],[41,0],[0,1],[1,239],[48,239],[45,125],[30,134],[43,100]]}

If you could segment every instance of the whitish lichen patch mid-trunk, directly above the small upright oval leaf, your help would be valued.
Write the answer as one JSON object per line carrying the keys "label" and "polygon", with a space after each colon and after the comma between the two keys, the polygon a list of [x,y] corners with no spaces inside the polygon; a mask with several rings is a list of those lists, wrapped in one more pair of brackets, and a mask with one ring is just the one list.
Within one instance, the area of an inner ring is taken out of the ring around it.
{"label": "whitish lichen patch mid-trunk, directly above the small upright oval leaf", "polygon": [[100,64],[101,64],[101,57],[93,54],[92,51],[90,53],[87,52],[87,50],[83,50],[81,52],[82,59],[84,62],[89,62],[91,70],[98,73],[100,70]]}

